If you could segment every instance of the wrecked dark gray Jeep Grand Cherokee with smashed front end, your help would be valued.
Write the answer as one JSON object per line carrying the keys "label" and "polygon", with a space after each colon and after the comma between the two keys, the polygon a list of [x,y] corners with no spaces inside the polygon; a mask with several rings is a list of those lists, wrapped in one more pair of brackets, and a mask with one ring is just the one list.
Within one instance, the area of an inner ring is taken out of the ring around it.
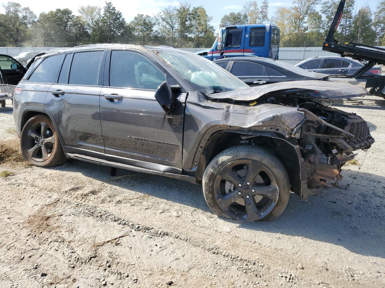
{"label": "wrecked dark gray Jeep Grand Cherokee with smashed front end", "polygon": [[324,81],[249,88],[185,51],[91,45],[37,57],[13,117],[36,166],[73,158],[199,182],[215,214],[273,220],[290,191],[319,193],[374,142],[361,117],[330,107],[365,94]]}

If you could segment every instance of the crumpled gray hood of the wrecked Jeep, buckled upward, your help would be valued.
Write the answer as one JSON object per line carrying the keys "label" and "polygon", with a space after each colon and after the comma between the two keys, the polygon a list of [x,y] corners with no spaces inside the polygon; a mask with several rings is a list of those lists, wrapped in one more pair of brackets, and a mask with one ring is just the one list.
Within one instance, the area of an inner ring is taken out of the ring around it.
{"label": "crumpled gray hood of the wrecked Jeep, buckled upward", "polygon": [[367,89],[350,84],[333,83],[329,81],[288,81],[266,84],[253,88],[238,89],[228,92],[207,94],[210,99],[230,99],[234,101],[253,101],[273,93],[297,94],[314,91],[315,98],[338,99],[352,98],[369,94]]}

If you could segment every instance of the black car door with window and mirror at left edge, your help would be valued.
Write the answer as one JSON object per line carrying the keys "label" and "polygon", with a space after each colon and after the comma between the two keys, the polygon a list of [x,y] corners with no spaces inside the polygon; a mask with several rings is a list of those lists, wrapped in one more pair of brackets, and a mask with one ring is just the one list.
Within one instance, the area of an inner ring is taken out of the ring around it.
{"label": "black car door with window and mirror at left edge", "polygon": [[25,74],[25,68],[9,55],[0,54],[2,84],[17,85]]}

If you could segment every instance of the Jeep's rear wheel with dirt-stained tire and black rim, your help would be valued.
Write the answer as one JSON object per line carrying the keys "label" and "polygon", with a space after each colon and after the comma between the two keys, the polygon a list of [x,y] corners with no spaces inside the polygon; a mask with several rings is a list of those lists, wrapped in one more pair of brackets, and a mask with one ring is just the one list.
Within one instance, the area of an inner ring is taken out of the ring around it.
{"label": "Jeep's rear wheel with dirt-stained tire and black rim", "polygon": [[25,123],[20,147],[24,159],[35,166],[59,166],[67,161],[57,131],[44,114],[33,116]]}

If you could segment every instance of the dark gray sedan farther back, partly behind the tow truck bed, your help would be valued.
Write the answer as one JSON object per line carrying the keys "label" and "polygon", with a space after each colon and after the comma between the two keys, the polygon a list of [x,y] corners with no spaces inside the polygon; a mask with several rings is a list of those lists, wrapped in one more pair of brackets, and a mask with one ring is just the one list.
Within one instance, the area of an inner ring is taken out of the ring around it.
{"label": "dark gray sedan farther back, partly behind the tow truck bed", "polygon": [[[330,75],[353,75],[363,66],[360,61],[340,56],[315,56],[305,59],[298,66],[307,71],[319,72]],[[381,66],[373,66],[364,76],[380,76]]]}

